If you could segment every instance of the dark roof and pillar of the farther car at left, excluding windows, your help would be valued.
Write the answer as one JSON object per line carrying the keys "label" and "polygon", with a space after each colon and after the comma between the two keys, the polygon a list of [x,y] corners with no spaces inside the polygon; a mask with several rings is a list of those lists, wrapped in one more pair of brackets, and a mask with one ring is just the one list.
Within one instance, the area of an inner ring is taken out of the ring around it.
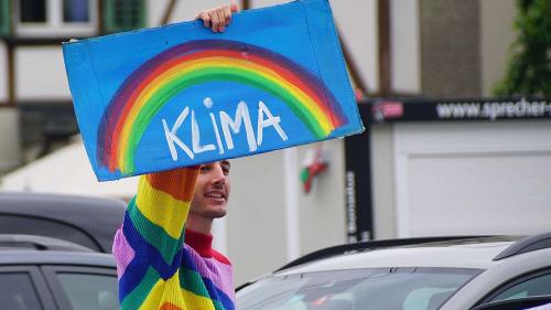
{"label": "dark roof and pillar of the farther car at left, excluding windows", "polygon": [[[26,192],[0,193],[0,214],[63,223],[90,237],[97,247],[107,253],[111,250],[112,237],[122,222],[125,210],[125,202],[114,199]],[[8,228],[0,227],[0,233],[25,233],[6,229]],[[64,237],[48,232],[41,232],[41,235]]]}

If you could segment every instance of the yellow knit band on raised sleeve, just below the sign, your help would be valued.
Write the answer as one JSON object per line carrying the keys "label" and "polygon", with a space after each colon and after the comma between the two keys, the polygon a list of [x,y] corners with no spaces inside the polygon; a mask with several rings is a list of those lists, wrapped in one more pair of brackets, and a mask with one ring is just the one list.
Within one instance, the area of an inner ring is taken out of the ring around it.
{"label": "yellow knit band on raised sleeve, just below the sign", "polygon": [[187,220],[190,202],[155,190],[144,177],[140,178],[136,204],[143,216],[162,227],[171,237],[180,238]]}

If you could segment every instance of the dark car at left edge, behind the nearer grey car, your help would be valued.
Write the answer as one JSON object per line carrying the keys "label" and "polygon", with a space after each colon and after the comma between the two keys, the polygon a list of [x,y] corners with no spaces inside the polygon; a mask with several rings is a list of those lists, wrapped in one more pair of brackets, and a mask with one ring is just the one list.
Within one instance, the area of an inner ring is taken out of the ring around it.
{"label": "dark car at left edge, behind the nearer grey car", "polygon": [[115,199],[2,192],[0,234],[48,236],[110,253],[125,210]]}

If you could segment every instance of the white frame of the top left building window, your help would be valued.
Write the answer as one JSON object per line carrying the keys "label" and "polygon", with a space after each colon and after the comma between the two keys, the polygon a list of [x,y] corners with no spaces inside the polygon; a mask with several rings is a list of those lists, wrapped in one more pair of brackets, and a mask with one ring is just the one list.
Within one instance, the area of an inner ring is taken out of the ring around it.
{"label": "white frame of the top left building window", "polygon": [[63,21],[63,0],[46,1],[46,21],[45,22],[21,22],[20,1],[14,1],[13,12],[13,33],[20,38],[44,38],[44,36],[89,36],[97,32],[99,24],[99,1],[88,0],[88,22],[64,22]]}

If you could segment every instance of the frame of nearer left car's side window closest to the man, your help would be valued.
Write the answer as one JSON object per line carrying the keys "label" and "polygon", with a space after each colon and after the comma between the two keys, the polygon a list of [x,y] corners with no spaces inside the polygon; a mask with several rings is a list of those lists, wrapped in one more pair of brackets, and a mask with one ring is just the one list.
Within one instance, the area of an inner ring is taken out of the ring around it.
{"label": "frame of nearer left car's side window closest to the man", "polygon": [[66,266],[66,265],[56,265],[56,266],[43,266],[42,272],[46,279],[46,282],[52,291],[53,298],[60,309],[73,309],[71,301],[57,278],[57,274],[67,272],[67,274],[87,274],[87,275],[98,275],[98,276],[114,276],[117,279],[117,269],[115,267],[99,267],[99,266]]}

